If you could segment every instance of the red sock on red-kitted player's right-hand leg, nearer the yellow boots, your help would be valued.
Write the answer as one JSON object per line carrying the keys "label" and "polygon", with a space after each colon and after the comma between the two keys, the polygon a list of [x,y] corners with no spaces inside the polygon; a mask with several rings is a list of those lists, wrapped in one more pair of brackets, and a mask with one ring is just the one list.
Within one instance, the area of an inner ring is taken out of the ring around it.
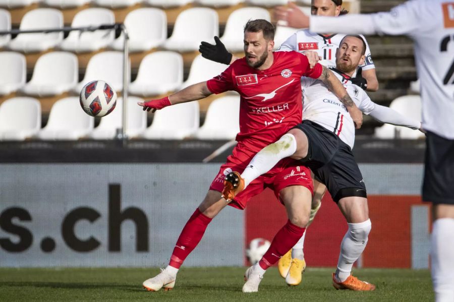
{"label": "red sock on red-kitted player's right-hand leg, nearer the yellow boots", "polygon": [[271,246],[262,259],[259,265],[262,269],[266,270],[279,260],[280,257],[285,255],[294,245],[298,242],[304,233],[305,227],[299,227],[287,220],[286,225],[276,233],[271,242]]}

